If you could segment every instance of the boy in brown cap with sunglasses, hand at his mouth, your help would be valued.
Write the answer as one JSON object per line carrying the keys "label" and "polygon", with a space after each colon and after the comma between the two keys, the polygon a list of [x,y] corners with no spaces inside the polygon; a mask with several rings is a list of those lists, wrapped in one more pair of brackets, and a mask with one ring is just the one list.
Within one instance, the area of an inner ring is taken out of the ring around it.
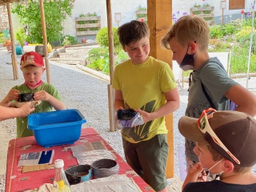
{"label": "boy in brown cap with sunglasses, hand at his mouth", "polygon": [[[251,171],[256,163],[256,120],[249,114],[210,108],[200,118],[183,116],[178,129],[196,142],[194,153],[199,159],[187,174],[182,192],[256,191]],[[219,180],[205,182],[207,172]]]}

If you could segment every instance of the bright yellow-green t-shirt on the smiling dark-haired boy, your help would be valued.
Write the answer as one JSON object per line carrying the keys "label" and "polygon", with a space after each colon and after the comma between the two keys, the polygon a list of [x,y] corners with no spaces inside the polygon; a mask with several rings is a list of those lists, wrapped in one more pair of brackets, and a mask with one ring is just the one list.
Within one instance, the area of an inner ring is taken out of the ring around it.
{"label": "bright yellow-green t-shirt on the smiling dark-haired boy", "polygon": [[[152,57],[139,65],[128,60],[114,69],[113,88],[122,91],[125,106],[131,109],[140,108],[148,113],[158,110],[166,103],[164,92],[175,87],[176,82],[170,66]],[[166,133],[164,117],[146,122],[142,126],[122,129],[122,137],[132,143]]]}

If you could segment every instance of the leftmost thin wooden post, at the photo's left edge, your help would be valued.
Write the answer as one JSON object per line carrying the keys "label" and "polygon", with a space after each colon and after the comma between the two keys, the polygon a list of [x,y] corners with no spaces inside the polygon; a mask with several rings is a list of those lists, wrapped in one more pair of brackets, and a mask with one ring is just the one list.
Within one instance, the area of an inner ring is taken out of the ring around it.
{"label": "leftmost thin wooden post, at the photo's left edge", "polygon": [[14,73],[14,80],[18,79],[18,66],[17,66],[17,59],[16,59],[16,47],[15,47],[15,39],[14,39],[14,30],[13,24],[10,14],[10,2],[6,2],[7,11],[8,11],[8,18],[9,18],[9,27],[10,27],[10,39],[11,39],[11,62],[13,65],[13,73]]}

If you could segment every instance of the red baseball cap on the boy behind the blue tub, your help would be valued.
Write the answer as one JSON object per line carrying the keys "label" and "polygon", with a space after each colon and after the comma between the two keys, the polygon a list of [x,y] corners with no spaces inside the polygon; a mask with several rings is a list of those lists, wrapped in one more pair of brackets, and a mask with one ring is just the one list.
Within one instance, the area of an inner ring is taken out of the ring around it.
{"label": "red baseball cap on the boy behind the blue tub", "polygon": [[38,54],[34,51],[26,52],[26,54],[23,54],[21,58],[21,69],[24,66],[29,65],[34,65],[38,67],[44,66],[41,54]]}

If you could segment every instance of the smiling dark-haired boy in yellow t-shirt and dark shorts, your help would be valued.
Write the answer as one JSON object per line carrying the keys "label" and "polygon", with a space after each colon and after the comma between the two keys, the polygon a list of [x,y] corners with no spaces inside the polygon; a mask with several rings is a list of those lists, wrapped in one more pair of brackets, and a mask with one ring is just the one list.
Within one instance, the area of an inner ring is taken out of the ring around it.
{"label": "smiling dark-haired boy in yellow t-shirt and dark shorts", "polygon": [[180,105],[174,74],[166,62],[150,57],[150,30],[131,21],[118,28],[130,59],[114,69],[114,110],[134,109],[144,124],[122,129],[126,162],[156,191],[167,191],[167,114]]}

